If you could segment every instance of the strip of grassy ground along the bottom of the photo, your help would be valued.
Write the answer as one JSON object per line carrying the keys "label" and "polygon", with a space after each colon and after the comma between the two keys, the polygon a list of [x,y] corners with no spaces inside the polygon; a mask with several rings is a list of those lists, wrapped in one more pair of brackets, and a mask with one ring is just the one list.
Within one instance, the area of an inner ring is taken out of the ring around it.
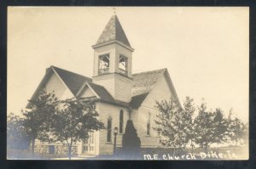
{"label": "strip of grassy ground along the bottom of the photo", "polygon": [[[141,155],[136,159],[127,159],[126,155],[98,155],[96,157],[89,157],[83,155],[73,155],[72,160],[247,160],[248,152],[247,146],[227,146],[227,147],[212,147],[207,149],[195,148],[193,154],[195,159],[184,159],[182,155],[188,155],[192,153],[192,149],[188,148],[185,152],[178,155],[176,151],[175,156],[179,156],[179,159],[175,159],[173,156],[173,149],[154,148],[154,149],[142,149]],[[146,155],[146,158],[145,158]],[[154,159],[154,155],[158,155],[158,159]],[[223,158],[221,158],[221,155]],[[125,157],[126,156],[126,157]],[[150,158],[149,158],[150,157]],[[172,159],[173,157],[173,159]],[[50,154],[34,154],[32,157],[29,149],[8,149],[8,160],[68,160],[67,155],[50,155]]]}

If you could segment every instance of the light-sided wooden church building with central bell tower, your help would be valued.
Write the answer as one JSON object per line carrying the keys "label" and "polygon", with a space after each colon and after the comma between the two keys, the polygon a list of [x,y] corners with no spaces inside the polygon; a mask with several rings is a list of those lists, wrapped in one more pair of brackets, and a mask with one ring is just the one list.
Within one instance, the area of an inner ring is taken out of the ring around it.
{"label": "light-sided wooden church building with central bell tower", "polygon": [[[108,21],[102,35],[92,46],[93,76],[87,77],[59,67],[50,66],[32,99],[45,88],[55,91],[58,99],[96,97],[96,111],[106,129],[90,132],[90,138],[75,144],[75,155],[112,155],[113,128],[118,127],[117,147],[122,146],[126,121],[133,121],[142,148],[160,146],[154,131],[155,101],[177,99],[167,69],[132,73],[132,53],[117,15]],[[72,64],[72,62],[71,62]],[[74,65],[75,66],[75,65]],[[142,65],[143,66],[143,65]],[[177,99],[178,100],[178,99]],[[178,102],[179,103],[179,102]],[[36,151],[61,153],[61,144],[36,144]],[[43,150],[42,150],[43,149]]]}

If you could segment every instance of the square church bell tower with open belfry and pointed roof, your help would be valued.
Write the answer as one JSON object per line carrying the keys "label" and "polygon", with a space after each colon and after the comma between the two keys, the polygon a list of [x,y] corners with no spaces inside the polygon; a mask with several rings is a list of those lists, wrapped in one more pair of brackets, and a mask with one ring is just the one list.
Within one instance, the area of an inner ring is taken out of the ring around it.
{"label": "square church bell tower with open belfry and pointed roof", "polygon": [[93,82],[105,87],[114,99],[131,101],[130,42],[125,36],[118,17],[114,14],[108,21],[94,48]]}

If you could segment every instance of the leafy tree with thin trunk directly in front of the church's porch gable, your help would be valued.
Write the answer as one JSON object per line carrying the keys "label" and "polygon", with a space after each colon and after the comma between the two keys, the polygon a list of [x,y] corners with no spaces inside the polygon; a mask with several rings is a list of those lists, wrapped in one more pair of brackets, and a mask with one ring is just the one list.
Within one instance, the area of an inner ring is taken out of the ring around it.
{"label": "leafy tree with thin trunk directly in front of the church's porch gable", "polygon": [[73,144],[89,138],[89,132],[103,129],[104,125],[97,119],[94,99],[65,99],[59,101],[59,107],[49,121],[49,140],[66,144],[71,159]]}

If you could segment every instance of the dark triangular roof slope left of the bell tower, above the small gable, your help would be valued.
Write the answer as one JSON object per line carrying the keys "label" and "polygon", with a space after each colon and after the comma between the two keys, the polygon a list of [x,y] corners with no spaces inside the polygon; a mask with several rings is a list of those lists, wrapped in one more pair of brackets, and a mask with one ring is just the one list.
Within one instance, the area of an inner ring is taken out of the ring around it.
{"label": "dark triangular roof slope left of the bell tower, above the small gable", "polygon": [[79,89],[84,84],[84,82],[92,82],[92,79],[89,77],[82,76],[68,70],[63,70],[55,66],[50,67],[52,67],[56,71],[56,73],[61,77],[61,80],[65,82],[65,84],[74,96],[76,95],[76,93],[79,92]]}

